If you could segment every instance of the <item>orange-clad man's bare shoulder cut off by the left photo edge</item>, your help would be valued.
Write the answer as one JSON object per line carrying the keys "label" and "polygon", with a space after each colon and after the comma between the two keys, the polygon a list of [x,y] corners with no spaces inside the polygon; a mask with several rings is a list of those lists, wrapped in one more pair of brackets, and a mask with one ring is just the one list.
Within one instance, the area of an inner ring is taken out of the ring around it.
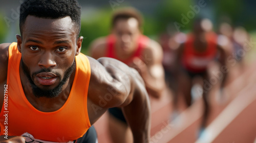
{"label": "orange-clad man's bare shoulder cut off by the left photo edge", "polygon": [[11,43],[0,44],[0,82],[4,82],[7,77],[8,69],[8,49]]}

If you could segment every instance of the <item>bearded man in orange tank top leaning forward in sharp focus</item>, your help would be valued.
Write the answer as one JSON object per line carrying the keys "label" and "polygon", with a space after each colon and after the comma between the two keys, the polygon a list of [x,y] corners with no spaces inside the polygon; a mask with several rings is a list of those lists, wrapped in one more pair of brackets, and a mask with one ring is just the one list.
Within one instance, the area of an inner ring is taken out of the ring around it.
{"label": "bearded man in orange tank top leaning forward in sharp focus", "polygon": [[92,125],[113,107],[122,108],[134,142],[150,141],[141,76],[81,54],[80,16],[76,0],[20,6],[17,42],[0,44],[1,142],[97,142]]}

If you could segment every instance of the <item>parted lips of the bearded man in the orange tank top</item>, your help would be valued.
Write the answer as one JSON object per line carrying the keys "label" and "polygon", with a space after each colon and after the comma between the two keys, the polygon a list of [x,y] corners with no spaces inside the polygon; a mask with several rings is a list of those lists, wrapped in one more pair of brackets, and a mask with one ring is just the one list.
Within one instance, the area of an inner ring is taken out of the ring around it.
{"label": "parted lips of the bearded man in the orange tank top", "polygon": [[53,73],[39,73],[36,79],[41,85],[52,85],[57,81],[57,76]]}

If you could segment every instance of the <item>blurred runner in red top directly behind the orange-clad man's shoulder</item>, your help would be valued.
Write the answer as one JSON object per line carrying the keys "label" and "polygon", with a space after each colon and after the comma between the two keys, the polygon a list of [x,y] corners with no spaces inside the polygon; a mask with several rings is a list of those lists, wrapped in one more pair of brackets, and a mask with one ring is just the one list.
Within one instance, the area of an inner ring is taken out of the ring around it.
{"label": "blurred runner in red top directly behind the orange-clad man's shoulder", "polygon": [[[112,16],[111,35],[91,44],[91,56],[115,58],[134,67],[145,82],[148,94],[160,98],[165,89],[163,52],[154,40],[142,34],[142,17],[133,8],[116,10]],[[132,142],[129,126],[120,109],[110,109],[110,133],[114,142]],[[126,135],[122,135],[123,132]]]}

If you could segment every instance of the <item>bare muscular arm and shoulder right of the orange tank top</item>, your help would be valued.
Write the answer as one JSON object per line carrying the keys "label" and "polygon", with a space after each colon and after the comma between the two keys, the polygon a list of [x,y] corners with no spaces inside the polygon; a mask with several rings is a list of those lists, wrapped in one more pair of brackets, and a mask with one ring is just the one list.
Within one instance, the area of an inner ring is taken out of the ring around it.
{"label": "bare muscular arm and shoulder right of the orange tank top", "polygon": [[[106,109],[122,107],[130,125],[134,142],[146,142],[150,138],[150,103],[144,83],[138,72],[112,58],[90,58],[91,79],[89,85],[89,118],[96,122]],[[104,102],[102,102],[104,100]],[[97,105],[98,112],[90,106]]]}

